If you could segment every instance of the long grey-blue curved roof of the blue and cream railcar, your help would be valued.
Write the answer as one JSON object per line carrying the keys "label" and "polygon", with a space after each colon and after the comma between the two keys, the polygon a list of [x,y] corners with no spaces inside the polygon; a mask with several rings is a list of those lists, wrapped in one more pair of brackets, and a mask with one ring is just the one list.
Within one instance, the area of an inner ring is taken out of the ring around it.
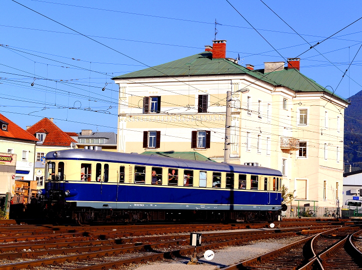
{"label": "long grey-blue curved roof of the blue and cream railcar", "polygon": [[52,151],[47,153],[45,158],[46,160],[53,160],[53,159],[91,160],[91,161],[104,161],[104,162],[131,163],[131,164],[148,165],[154,167],[169,167],[169,168],[183,168],[183,169],[187,168],[195,170],[281,176],[281,173],[278,170],[260,167],[260,166],[248,166],[248,165],[218,163],[218,162],[209,162],[209,161],[196,161],[188,159],[160,157],[158,155],[146,156],[139,154],[118,153],[118,152],[108,152],[108,151],[89,150],[89,149],[68,149],[68,150]]}

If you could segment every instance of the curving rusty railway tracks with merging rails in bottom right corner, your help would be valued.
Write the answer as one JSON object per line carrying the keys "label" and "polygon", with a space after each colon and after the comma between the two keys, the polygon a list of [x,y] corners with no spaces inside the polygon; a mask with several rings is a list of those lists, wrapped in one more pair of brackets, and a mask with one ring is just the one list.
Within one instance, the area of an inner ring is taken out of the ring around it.
{"label": "curving rusty railway tracks with merging rails in bottom right corner", "polygon": [[361,228],[341,227],[318,233],[224,270],[358,270],[362,269]]}

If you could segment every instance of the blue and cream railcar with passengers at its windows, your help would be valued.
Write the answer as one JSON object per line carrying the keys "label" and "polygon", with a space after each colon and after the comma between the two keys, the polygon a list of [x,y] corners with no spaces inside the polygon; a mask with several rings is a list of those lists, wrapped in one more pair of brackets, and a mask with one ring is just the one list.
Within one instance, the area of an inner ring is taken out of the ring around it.
{"label": "blue and cream railcar with passengers at its windows", "polygon": [[83,220],[272,220],[281,209],[281,173],[264,167],[70,149],[47,153],[45,171],[48,207]]}

